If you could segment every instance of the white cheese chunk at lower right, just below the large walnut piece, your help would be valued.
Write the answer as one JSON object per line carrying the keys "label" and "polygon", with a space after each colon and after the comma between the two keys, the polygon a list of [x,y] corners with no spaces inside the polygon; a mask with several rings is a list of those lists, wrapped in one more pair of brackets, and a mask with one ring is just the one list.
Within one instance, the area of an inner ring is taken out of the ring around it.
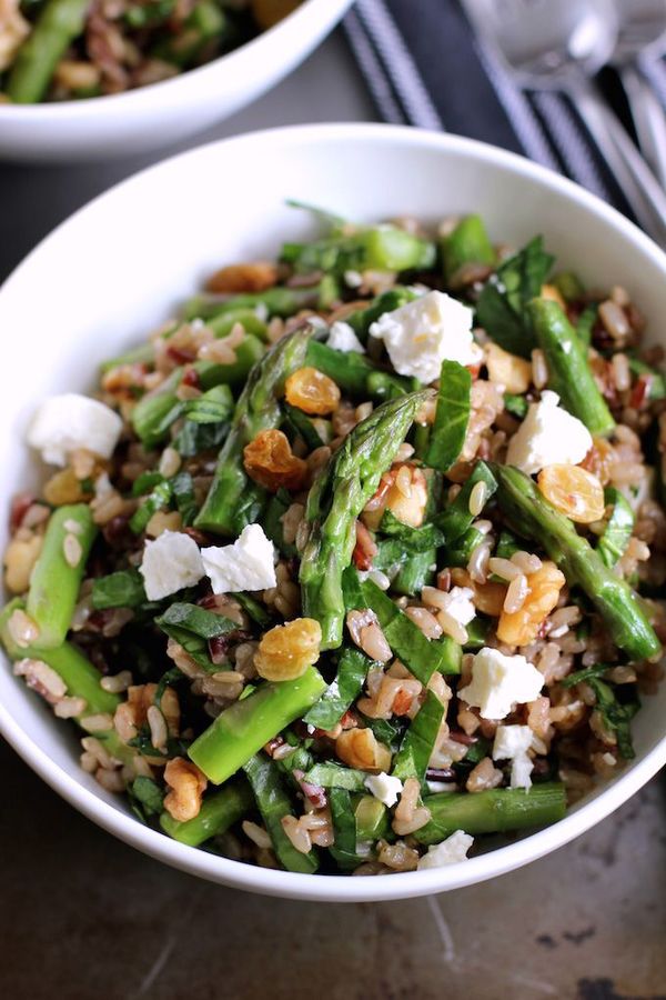
{"label": "white cheese chunk at lower right, just below the large walnut piece", "polygon": [[543,674],[525,657],[506,657],[487,646],[472,661],[472,681],[458,691],[468,704],[476,706],[484,719],[504,719],[514,704],[538,698]]}

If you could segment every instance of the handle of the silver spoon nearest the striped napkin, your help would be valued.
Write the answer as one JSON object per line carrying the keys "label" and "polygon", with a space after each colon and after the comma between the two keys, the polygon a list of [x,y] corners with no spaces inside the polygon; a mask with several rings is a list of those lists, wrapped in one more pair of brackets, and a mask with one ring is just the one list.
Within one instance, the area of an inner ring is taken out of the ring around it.
{"label": "handle of the silver spoon nearest the striped napkin", "polygon": [[657,179],[593,84],[576,87],[572,97],[636,219],[666,247],[666,193]]}

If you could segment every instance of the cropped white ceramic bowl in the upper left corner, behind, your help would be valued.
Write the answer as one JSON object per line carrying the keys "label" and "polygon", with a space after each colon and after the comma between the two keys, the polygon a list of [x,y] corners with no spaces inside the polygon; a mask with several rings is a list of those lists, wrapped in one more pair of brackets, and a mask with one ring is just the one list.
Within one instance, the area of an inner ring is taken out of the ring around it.
{"label": "cropped white ceramic bowl in the upper left corner, behind", "polygon": [[228,56],[150,87],[81,101],[0,103],[0,159],[103,160],[193,136],[291,72],[351,3],[305,0],[274,28]]}

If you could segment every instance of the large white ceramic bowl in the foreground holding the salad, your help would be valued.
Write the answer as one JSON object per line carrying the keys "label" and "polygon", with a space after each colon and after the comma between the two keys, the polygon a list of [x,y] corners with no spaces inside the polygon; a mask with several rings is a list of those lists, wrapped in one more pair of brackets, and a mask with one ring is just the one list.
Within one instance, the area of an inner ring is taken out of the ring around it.
{"label": "large white ceramic bowl in the foreground holding the salad", "polygon": [[[220,177],[228,183],[221,184]],[[153,167],[98,198],[48,237],[0,290],[0,510],[7,510],[17,488],[42,474],[23,444],[38,400],[90,389],[102,359],[139,342],[211,269],[265,257],[285,239],[312,236],[312,220],[285,208],[287,197],[357,220],[397,213],[436,220],[477,210],[495,239],[515,244],[542,232],[561,261],[587,281],[626,286],[650,319],[653,336],[663,331],[664,253],[613,209],[527,160],[452,136],[370,124],[281,129],[231,139]],[[4,517],[0,522],[4,531]],[[0,549],[3,546],[0,539]],[[213,881],[337,902],[455,889],[561,847],[616,809],[662,767],[665,720],[666,686],[645,699],[635,720],[636,759],[541,832],[434,871],[371,879],[317,877],[228,861],[141,826],[121,799],[107,794],[80,770],[68,727],[9,669],[0,669],[0,730],[53,789],[101,827]]]}

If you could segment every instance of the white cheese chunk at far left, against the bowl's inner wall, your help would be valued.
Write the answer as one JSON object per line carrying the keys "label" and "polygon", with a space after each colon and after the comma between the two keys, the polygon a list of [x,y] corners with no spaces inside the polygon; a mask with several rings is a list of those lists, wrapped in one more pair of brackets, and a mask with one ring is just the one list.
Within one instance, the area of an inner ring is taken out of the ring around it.
{"label": "white cheese chunk at far left, against the bowl's inner wall", "polygon": [[68,454],[79,448],[101,458],[111,458],[118,444],[122,420],[110,407],[65,392],[52,396],[38,408],[28,430],[28,443],[52,466],[67,466]]}

